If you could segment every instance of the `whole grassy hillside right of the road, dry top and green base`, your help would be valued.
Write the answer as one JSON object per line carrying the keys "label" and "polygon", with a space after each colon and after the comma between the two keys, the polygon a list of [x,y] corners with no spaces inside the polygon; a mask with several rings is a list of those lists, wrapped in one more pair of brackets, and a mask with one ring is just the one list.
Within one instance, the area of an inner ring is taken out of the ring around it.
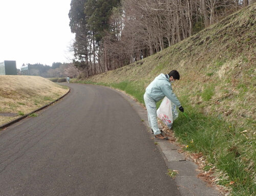
{"label": "whole grassy hillside right of the road, dry top and green base", "polygon": [[[189,118],[174,123],[187,150],[216,167],[219,184],[233,195],[255,193],[256,4],[153,56],[84,83],[110,85],[143,103],[146,86],[160,73],[178,70],[173,89]],[[231,183],[230,183],[231,182]]]}

